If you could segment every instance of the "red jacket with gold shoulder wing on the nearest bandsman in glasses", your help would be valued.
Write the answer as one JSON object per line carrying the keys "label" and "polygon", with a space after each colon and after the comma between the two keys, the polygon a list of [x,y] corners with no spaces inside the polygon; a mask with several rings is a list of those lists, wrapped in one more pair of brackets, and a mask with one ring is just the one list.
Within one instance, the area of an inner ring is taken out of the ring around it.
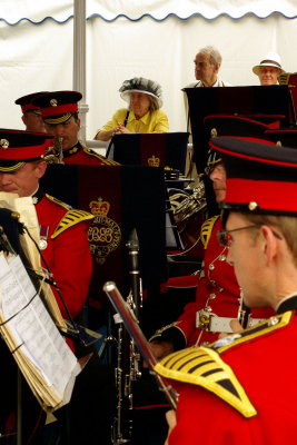
{"label": "red jacket with gold shoulder wing on the nearest bandsman in glasses", "polygon": [[294,310],[157,365],[179,393],[169,445],[296,444],[297,297],[283,305]]}

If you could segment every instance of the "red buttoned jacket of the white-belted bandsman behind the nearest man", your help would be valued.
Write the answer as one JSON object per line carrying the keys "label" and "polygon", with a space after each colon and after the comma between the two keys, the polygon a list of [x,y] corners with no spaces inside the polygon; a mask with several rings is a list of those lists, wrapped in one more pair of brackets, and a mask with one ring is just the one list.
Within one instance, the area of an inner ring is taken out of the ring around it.
{"label": "red buttoned jacket of the white-belted bandsman behind the nearest man", "polygon": [[[169,340],[175,350],[186,346],[208,345],[218,338],[219,332],[199,327],[197,313],[218,317],[238,318],[240,289],[234,268],[227,263],[227,247],[220,246],[217,231],[221,230],[221,220],[215,216],[204,222],[201,240],[205,246],[205,259],[199,274],[196,301],[189,303],[177,323],[156,332],[151,342]],[[251,318],[265,319],[274,315],[270,308],[253,309]]]}

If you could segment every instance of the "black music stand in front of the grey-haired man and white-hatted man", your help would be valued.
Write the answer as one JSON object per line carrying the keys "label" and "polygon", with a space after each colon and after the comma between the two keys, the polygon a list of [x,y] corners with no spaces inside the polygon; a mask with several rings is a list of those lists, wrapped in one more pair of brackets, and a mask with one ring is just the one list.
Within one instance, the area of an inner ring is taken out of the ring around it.
{"label": "black music stand in front of the grey-haired man and white-hatted man", "polygon": [[[277,115],[285,116],[281,120],[284,127],[296,121],[291,95],[287,86],[185,88],[185,91],[189,103],[198,172],[202,172],[207,164],[209,135],[204,126],[206,116],[217,113],[249,117]],[[250,136],[253,137],[253,135]]]}

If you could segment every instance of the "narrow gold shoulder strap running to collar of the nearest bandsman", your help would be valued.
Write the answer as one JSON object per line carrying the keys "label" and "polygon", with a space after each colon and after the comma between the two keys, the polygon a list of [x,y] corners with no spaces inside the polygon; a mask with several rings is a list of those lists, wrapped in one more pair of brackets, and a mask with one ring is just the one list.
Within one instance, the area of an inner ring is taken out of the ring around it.
{"label": "narrow gold shoulder strap running to collar of the nearest bandsman", "polygon": [[225,350],[237,346],[241,343],[249,342],[254,338],[260,337],[266,334],[270,334],[284,326],[287,326],[291,319],[293,312],[287,312],[280,315],[274,315],[273,317],[261,322],[254,327],[242,330],[239,334],[231,334],[227,337],[220,338],[215,342],[210,347],[216,349],[219,354]]}

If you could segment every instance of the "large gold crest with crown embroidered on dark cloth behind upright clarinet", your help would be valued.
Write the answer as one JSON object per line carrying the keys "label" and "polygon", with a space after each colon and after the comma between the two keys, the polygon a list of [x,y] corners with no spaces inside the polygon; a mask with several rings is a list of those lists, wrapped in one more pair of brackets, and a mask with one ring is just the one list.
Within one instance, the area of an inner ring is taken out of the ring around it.
{"label": "large gold crest with crown embroidered on dark cloth behind upright clarinet", "polygon": [[92,256],[102,265],[106,257],[119,246],[121,231],[118,224],[107,217],[110,210],[108,201],[100,197],[97,201],[90,201],[89,208],[95,219],[88,230],[88,240]]}

